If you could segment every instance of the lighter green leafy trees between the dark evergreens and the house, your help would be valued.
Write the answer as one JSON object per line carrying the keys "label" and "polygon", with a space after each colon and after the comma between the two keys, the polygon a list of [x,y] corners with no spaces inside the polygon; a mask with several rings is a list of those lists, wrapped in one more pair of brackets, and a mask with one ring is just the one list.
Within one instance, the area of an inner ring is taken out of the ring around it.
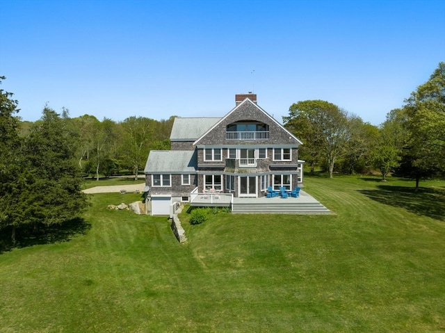
{"label": "lighter green leafy trees between the dark evergreens and the house", "polygon": [[[94,115],[71,118],[65,108],[61,114],[67,126],[76,132],[76,161],[85,177],[99,180],[102,176],[133,174],[138,179],[150,150],[170,149],[175,116],[168,120],[130,116],[115,122],[109,118],[100,121]],[[20,122],[20,135],[26,137],[40,122]]]}

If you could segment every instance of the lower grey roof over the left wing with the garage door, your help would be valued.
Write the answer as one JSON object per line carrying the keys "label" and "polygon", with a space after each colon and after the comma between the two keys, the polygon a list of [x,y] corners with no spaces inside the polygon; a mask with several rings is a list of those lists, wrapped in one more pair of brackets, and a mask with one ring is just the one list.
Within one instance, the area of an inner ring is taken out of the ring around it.
{"label": "lower grey roof over the left wing with the garage door", "polygon": [[188,173],[196,172],[197,154],[194,150],[152,150],[145,164],[144,172]]}

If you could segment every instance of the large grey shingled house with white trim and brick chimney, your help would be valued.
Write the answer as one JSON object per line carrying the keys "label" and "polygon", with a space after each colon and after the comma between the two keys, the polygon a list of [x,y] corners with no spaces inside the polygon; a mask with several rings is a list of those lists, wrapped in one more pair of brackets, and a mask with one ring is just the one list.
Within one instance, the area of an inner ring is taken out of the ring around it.
{"label": "large grey shingled house with white trim and brick chimney", "polygon": [[269,186],[302,186],[301,141],[257,105],[257,95],[235,101],[224,117],[175,118],[172,149],[149,153],[153,215],[168,215],[173,202],[230,206],[234,197],[264,197]]}

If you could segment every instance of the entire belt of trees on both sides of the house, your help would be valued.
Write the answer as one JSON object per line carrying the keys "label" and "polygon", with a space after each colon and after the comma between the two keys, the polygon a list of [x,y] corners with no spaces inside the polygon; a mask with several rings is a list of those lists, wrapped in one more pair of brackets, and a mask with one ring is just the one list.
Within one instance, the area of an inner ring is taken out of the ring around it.
{"label": "entire belt of trees on both sides of the house", "polygon": [[[0,77],[0,83],[5,78]],[[419,180],[445,174],[445,63],[376,127],[328,101],[298,101],[284,127],[303,145],[300,159],[332,177],[379,170]],[[168,120],[92,115],[70,117],[45,106],[36,122],[22,122],[18,101],[0,90],[0,232],[38,232],[80,216],[88,206],[84,178],[128,172],[138,178],[149,151],[170,149]],[[0,240],[1,241],[1,240]],[[0,244],[1,245],[1,244]]]}

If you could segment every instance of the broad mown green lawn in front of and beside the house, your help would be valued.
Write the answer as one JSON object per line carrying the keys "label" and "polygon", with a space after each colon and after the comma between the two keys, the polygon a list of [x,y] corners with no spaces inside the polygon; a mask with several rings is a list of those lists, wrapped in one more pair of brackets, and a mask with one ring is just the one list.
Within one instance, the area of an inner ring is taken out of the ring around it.
{"label": "broad mown green lawn in front of and beside the house", "polygon": [[307,177],[335,214],[166,218],[93,195],[70,241],[0,254],[0,332],[444,332],[445,181]]}

